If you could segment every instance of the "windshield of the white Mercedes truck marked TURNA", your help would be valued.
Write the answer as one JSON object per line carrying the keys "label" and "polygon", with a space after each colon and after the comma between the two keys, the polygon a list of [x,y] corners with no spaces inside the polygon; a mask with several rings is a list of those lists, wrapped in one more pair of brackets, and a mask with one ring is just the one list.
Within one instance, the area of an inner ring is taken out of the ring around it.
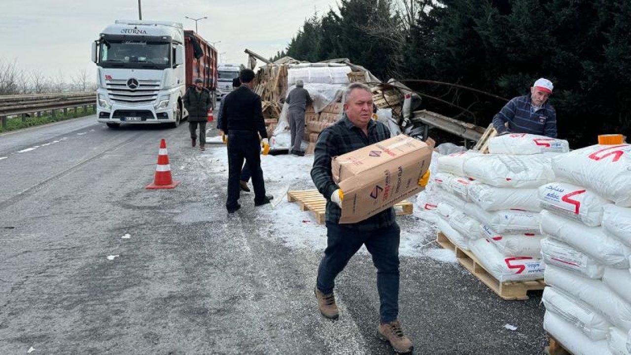
{"label": "windshield of the white Mercedes truck marked TURNA", "polygon": [[146,40],[103,40],[99,64],[103,68],[165,69],[170,66],[170,43]]}

